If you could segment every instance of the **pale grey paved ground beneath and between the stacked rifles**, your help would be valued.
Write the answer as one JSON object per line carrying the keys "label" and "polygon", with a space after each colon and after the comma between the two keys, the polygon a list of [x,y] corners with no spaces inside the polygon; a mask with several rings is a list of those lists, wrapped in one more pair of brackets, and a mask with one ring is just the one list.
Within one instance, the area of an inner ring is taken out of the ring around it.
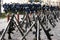
{"label": "pale grey paved ground beneath and between the stacked rifles", "polygon": [[[56,25],[55,28],[52,28],[51,25],[49,24],[49,27],[52,29],[50,31],[50,33],[54,34],[54,36],[51,37],[52,40],[60,40],[60,21],[56,22],[56,24],[57,25]],[[2,29],[5,29],[6,25],[7,25],[6,18],[5,19],[0,19],[0,31]],[[33,30],[35,31],[34,28],[33,28]],[[22,36],[19,33],[19,31],[17,30],[17,28],[13,32],[14,32],[14,34],[11,34],[11,37],[12,37],[13,40],[20,40],[22,38]],[[27,40],[33,40],[34,39],[35,35],[33,35],[32,32],[29,32],[29,34],[26,36]],[[7,33],[5,34],[5,38],[8,40],[8,34]],[[41,40],[48,40],[43,30],[41,31]]]}

